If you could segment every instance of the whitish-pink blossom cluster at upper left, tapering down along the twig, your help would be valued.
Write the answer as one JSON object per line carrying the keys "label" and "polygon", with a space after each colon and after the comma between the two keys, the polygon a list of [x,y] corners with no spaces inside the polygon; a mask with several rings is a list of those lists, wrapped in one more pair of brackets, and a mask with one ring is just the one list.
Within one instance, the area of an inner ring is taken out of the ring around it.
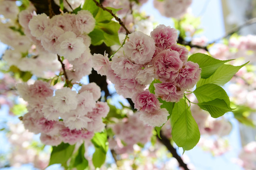
{"label": "whitish-pink blossom cluster at upper left, tapering down along the twig", "polygon": [[94,29],[95,19],[88,10],[52,18],[44,13],[36,15],[23,10],[18,19],[39,51],[58,54],[72,64],[73,67],[67,70],[70,79],[79,81],[91,73],[91,38],[88,34]]}

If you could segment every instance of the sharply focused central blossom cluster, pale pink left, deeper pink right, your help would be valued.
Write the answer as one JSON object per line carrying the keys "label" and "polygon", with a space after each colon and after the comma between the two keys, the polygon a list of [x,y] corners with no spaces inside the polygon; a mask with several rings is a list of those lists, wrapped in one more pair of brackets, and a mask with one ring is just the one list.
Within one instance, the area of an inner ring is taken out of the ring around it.
{"label": "sharply focused central blossom cluster, pale pink left, deeper pink right", "polygon": [[[179,102],[184,91],[201,78],[201,68],[187,61],[188,51],[177,44],[177,32],[170,26],[157,26],[151,37],[139,31],[128,37],[112,61],[107,54],[94,54],[93,68],[108,76],[117,93],[132,99],[141,111],[141,120],[150,126],[161,126],[167,121],[168,111],[160,108],[157,98]],[[152,94],[145,88],[154,78],[161,83],[154,84]]]}

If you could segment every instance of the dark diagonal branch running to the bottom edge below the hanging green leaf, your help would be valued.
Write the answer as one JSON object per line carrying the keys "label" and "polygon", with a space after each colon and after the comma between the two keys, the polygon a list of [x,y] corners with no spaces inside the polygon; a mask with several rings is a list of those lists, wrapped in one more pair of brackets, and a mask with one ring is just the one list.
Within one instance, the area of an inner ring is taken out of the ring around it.
{"label": "dark diagonal branch running to the bottom edge below the hanging green leaf", "polygon": [[170,140],[163,135],[162,131],[160,130],[160,136],[162,139],[160,139],[158,136],[157,139],[166,146],[166,148],[172,153],[173,157],[179,162],[179,166],[182,167],[184,170],[189,170],[187,167],[187,164],[185,164],[183,162],[183,160],[181,159],[181,157],[178,155],[178,153],[176,152],[176,149],[174,148],[174,146],[170,143]]}

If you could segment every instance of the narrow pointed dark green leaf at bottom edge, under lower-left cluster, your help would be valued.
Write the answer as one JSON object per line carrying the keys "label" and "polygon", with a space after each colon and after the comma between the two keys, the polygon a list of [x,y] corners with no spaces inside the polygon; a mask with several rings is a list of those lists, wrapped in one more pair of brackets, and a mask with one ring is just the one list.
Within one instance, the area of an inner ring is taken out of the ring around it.
{"label": "narrow pointed dark green leaf at bottom edge, under lower-left cluster", "polygon": [[84,144],[81,144],[78,151],[74,154],[73,159],[70,161],[70,168],[76,168],[76,170],[84,170],[88,168],[88,161],[84,157],[85,148]]}

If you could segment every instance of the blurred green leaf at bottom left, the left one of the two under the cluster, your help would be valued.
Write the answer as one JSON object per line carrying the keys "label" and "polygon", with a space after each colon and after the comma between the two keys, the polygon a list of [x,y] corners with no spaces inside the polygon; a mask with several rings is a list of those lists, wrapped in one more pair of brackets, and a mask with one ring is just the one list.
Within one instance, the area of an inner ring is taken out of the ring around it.
{"label": "blurred green leaf at bottom left, the left one of the two under the cluster", "polygon": [[60,163],[64,168],[67,168],[67,161],[73,154],[75,145],[61,143],[58,146],[53,146],[49,165]]}

